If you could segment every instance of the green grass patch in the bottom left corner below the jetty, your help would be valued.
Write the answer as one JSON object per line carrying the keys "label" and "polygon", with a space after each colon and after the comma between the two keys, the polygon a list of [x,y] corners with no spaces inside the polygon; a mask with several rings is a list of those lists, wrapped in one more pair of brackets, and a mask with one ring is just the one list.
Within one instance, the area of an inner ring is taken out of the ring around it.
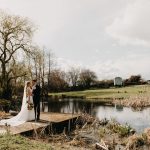
{"label": "green grass patch in the bottom left corner below the jetty", "polygon": [[0,150],[52,150],[50,145],[20,135],[1,135]]}

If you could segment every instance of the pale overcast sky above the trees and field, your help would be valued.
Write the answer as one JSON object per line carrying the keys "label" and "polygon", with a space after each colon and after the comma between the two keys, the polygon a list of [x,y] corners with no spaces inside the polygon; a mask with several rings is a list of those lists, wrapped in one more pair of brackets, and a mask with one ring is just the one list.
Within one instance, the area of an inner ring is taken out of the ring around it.
{"label": "pale overcast sky above the trees and field", "polygon": [[65,69],[150,79],[150,0],[0,0],[0,9],[31,19],[34,41]]}

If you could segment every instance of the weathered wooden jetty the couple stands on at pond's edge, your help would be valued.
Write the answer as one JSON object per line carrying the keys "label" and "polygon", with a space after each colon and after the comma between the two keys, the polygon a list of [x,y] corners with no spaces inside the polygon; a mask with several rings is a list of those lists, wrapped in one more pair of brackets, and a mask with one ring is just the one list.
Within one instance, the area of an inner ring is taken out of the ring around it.
{"label": "weathered wooden jetty the couple stands on at pond's edge", "polygon": [[79,117],[78,114],[67,113],[41,113],[40,121],[25,122],[18,126],[10,126],[9,129],[6,126],[0,126],[0,134],[6,133],[7,130],[11,134],[22,134],[27,132],[34,132],[38,129],[51,127],[54,132],[62,132],[64,128],[70,131],[71,125]]}

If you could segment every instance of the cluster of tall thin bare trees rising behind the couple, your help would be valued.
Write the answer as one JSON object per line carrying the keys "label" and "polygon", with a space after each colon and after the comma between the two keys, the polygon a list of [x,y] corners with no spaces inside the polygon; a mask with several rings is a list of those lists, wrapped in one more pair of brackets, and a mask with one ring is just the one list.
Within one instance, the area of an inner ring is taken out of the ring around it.
{"label": "cluster of tall thin bare trees rising behind the couple", "polygon": [[42,94],[47,95],[50,90],[51,72],[55,66],[55,57],[51,51],[46,50],[45,47],[32,47],[32,55],[29,55],[28,69],[31,78],[36,78],[42,86]]}

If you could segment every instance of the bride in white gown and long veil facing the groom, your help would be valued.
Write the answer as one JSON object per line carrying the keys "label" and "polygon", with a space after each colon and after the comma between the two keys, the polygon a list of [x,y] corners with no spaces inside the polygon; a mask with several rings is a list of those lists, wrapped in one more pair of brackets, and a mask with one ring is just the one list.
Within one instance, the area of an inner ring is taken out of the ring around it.
{"label": "bride in white gown and long veil facing the groom", "polygon": [[29,104],[33,104],[33,96],[32,96],[32,87],[31,82],[26,82],[24,87],[24,94],[22,100],[21,111],[17,116],[11,119],[3,119],[0,121],[0,125],[10,125],[10,126],[18,126],[27,121],[31,121],[35,119],[34,109],[31,107],[29,109]]}

